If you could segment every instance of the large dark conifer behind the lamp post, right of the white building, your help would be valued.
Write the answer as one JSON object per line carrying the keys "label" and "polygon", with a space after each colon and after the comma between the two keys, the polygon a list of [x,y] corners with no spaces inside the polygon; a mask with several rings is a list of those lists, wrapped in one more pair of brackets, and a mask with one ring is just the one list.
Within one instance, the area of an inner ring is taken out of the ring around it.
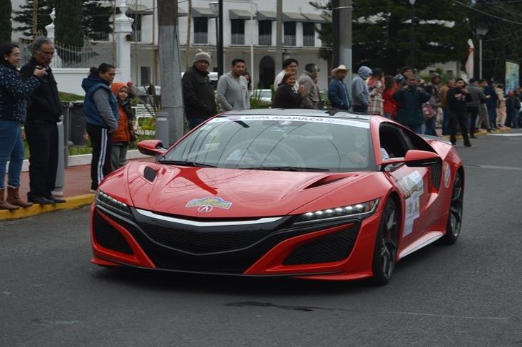
{"label": "large dark conifer behind the lamp post, right of the white building", "polygon": [[[322,6],[331,14],[331,9]],[[415,5],[416,66],[466,59],[471,30],[466,11],[451,0],[417,1]],[[411,6],[404,0],[354,0],[354,68],[367,65],[394,74],[409,64]],[[319,36],[325,48],[332,46],[331,23],[323,24]],[[355,70],[357,71],[357,70]]]}

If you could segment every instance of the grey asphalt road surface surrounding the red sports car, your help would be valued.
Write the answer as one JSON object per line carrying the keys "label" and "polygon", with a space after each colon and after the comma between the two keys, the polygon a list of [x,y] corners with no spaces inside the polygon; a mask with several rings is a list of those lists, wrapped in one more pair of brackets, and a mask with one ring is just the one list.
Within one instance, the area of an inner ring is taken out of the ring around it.
{"label": "grey asphalt road surface surrounding the red sports car", "polygon": [[522,346],[522,132],[459,147],[464,227],[388,286],[111,271],[88,209],[0,224],[0,346]]}

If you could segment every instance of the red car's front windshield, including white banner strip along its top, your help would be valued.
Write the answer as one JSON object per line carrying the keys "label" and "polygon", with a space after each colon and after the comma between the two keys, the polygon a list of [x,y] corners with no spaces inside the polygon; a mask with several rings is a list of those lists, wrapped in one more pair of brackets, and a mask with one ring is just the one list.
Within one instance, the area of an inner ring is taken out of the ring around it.
{"label": "red car's front windshield, including white banner strip along its top", "polygon": [[173,147],[161,162],[252,170],[377,170],[364,121],[293,115],[214,118]]}

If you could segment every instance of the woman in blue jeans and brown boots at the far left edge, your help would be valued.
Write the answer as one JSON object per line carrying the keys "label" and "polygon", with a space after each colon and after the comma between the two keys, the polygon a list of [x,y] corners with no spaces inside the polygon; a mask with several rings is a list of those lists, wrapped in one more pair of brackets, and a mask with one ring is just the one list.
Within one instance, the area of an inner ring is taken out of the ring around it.
{"label": "woman in blue jeans and brown boots at the far left edge", "polygon": [[[33,76],[22,83],[16,67],[20,63],[20,49],[12,43],[0,45],[0,209],[11,211],[33,204],[20,199],[20,173],[24,162],[24,144],[20,125],[26,120],[27,98],[38,88],[44,69],[36,69]],[[9,179],[6,187],[6,165],[9,160]]]}

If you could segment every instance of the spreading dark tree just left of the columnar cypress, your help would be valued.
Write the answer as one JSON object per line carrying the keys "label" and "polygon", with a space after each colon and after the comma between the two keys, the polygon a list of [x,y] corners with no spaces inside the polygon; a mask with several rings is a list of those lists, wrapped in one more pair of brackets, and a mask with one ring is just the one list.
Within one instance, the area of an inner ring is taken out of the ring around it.
{"label": "spreading dark tree just left of the columnar cypress", "polygon": [[[4,1],[4,0],[2,0]],[[45,27],[51,24],[51,11],[53,11],[54,0],[39,0],[38,1],[38,26],[37,31],[41,35],[46,35]],[[26,4],[20,6],[20,10],[13,11],[13,20],[21,24],[16,31],[21,31],[23,36],[30,38],[33,36],[33,0],[26,0]],[[11,12],[9,12],[11,13]]]}

